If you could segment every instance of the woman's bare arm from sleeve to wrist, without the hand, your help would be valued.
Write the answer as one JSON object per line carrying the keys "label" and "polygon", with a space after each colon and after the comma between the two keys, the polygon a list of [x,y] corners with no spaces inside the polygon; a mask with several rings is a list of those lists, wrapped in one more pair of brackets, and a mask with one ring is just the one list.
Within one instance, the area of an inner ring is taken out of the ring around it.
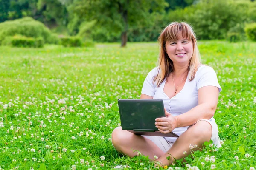
{"label": "woman's bare arm from sleeve to wrist, without the hand", "polygon": [[198,105],[177,117],[177,127],[193,125],[200,119],[211,119],[218,104],[219,88],[204,86],[198,90]]}

